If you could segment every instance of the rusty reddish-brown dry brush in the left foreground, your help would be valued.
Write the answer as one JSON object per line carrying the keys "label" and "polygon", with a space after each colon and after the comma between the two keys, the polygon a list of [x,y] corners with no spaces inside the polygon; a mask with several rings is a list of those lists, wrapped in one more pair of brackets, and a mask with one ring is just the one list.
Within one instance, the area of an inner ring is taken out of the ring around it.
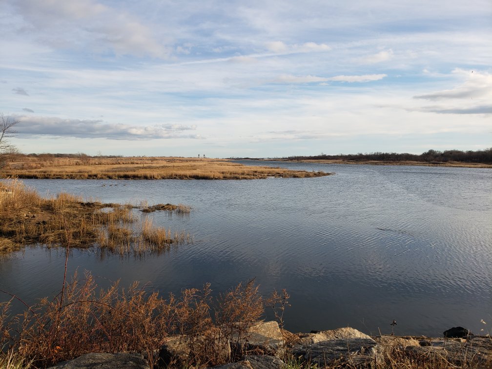
{"label": "rusty reddish-brown dry brush in the left foreground", "polygon": [[[75,274],[63,286],[61,293],[42,298],[15,319],[8,319],[11,302],[0,304],[0,345],[31,361],[32,367],[46,368],[88,352],[124,351],[143,354],[153,368],[156,350],[171,335],[190,349],[181,367],[223,364],[232,358],[221,354],[217,342],[247,339],[246,334],[234,338],[226,326],[232,321],[252,322],[263,312],[252,281],[220,295],[218,301],[212,298],[210,284],[184,289],[180,296],[169,294],[167,299],[145,292],[146,286],[138,283],[125,289],[117,281],[99,290],[88,272],[83,278]],[[214,312],[222,319],[214,322]]]}

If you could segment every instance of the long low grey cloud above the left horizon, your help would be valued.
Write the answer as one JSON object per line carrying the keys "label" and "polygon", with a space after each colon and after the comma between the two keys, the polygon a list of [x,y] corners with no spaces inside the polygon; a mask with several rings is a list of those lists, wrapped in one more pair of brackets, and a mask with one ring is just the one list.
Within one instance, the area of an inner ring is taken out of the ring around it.
{"label": "long low grey cloud above the left horizon", "polygon": [[128,125],[109,124],[102,120],[61,119],[49,117],[17,117],[19,135],[58,136],[78,138],[106,138],[110,140],[149,140],[160,138],[202,138],[187,133],[196,130],[195,125],[155,124]]}

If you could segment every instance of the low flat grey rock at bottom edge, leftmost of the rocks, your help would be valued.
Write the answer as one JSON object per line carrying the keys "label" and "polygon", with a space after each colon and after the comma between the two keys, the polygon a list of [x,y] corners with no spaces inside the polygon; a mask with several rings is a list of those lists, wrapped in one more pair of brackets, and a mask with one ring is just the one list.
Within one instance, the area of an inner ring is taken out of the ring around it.
{"label": "low flat grey rock at bottom edge, leftmost of the rocks", "polygon": [[94,353],[79,356],[76,359],[64,361],[51,368],[58,369],[150,369],[140,354],[103,354]]}

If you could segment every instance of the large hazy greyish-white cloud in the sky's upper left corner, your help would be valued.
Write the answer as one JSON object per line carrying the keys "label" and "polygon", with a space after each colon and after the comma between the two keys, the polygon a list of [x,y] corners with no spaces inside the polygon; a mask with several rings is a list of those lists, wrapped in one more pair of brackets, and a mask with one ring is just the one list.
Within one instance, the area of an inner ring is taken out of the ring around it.
{"label": "large hazy greyish-white cloud in the sky's upper left corner", "polygon": [[134,16],[92,0],[13,2],[25,26],[42,44],[120,55],[166,57],[170,51]]}

